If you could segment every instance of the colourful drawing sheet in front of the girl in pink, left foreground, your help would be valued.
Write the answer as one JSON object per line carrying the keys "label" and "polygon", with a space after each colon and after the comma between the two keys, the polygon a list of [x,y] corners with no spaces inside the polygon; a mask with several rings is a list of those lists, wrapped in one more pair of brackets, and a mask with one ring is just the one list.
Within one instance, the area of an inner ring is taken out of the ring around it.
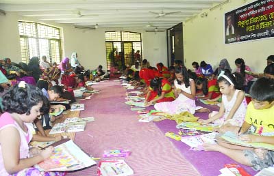
{"label": "colourful drawing sheet in front of the girl in pink, left foreground", "polygon": [[75,171],[94,164],[94,160],[69,140],[54,147],[51,157],[36,164],[35,167],[40,171]]}

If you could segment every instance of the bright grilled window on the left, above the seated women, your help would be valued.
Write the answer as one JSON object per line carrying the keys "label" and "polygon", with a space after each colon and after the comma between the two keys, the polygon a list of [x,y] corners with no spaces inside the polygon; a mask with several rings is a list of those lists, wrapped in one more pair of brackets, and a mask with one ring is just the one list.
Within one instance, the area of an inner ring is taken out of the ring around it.
{"label": "bright grilled window on the left, above the seated women", "polygon": [[51,63],[62,59],[61,29],[41,23],[18,21],[22,62],[45,55]]}

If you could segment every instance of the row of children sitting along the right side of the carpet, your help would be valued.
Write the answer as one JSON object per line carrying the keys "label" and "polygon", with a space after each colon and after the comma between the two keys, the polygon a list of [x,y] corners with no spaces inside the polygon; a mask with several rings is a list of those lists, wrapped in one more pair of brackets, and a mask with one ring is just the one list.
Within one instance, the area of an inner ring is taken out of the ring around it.
{"label": "row of children sitting along the right side of the carpet", "polygon": [[[197,72],[199,68],[194,64],[195,73],[189,72],[178,61],[171,69],[158,63],[158,69],[128,70],[123,81],[133,83],[136,87],[142,85],[145,104],[154,104],[156,110],[169,114],[209,112],[207,108],[197,108],[195,99],[221,99],[219,112],[210,113],[208,119],[200,119],[199,123],[216,123],[220,126],[219,132],[234,132],[242,141],[274,145],[274,55],[269,56],[267,61],[264,74],[246,72],[250,68],[243,59],[236,59],[237,72],[233,74],[227,66],[227,59],[221,60],[215,72],[209,64],[203,65],[204,61],[201,63],[201,72]],[[251,85],[249,93],[252,101],[247,105],[245,91],[253,76],[258,80]],[[274,164],[274,151],[221,142],[215,145],[206,143],[203,147],[208,151],[220,151],[241,164],[252,166],[256,171]]]}

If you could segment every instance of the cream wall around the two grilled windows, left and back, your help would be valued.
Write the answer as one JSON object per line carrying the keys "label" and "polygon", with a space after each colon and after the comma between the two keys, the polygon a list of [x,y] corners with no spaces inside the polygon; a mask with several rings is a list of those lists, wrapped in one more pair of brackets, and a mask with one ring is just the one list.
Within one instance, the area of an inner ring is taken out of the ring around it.
{"label": "cream wall around the two grilled windows, left and back", "polygon": [[[80,63],[87,69],[95,69],[98,65],[106,68],[105,31],[115,29],[83,30],[75,29],[72,25],[49,23],[39,21],[36,18],[18,16],[8,12],[6,16],[0,16],[0,59],[10,57],[12,61],[21,61],[21,47],[18,33],[18,20],[30,20],[62,27],[64,33],[64,55],[71,57],[76,51]],[[142,33],[142,58],[148,59],[151,65],[157,62],[166,64],[166,33],[146,33],[145,31],[127,29]]]}

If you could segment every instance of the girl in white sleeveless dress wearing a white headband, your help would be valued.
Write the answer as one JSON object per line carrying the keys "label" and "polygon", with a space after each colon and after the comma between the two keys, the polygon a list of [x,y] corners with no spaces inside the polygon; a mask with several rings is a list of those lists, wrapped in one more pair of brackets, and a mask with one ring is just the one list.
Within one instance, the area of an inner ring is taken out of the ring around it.
{"label": "girl in white sleeveless dress wearing a white headband", "polygon": [[209,119],[200,119],[199,122],[207,124],[213,122],[221,126],[221,131],[235,129],[233,126],[242,126],[247,111],[247,102],[245,101],[245,92],[240,91],[243,79],[240,74],[221,72],[218,83],[222,93],[222,102],[219,112],[212,112]]}

